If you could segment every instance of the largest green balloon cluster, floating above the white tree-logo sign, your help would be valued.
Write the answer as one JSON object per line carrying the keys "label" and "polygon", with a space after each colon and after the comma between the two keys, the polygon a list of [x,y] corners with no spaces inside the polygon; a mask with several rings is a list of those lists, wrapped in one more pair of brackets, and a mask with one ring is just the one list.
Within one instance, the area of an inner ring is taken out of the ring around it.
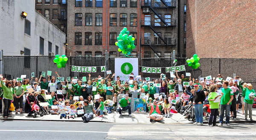
{"label": "largest green balloon cluster, floating above the white tree-logo sign", "polygon": [[131,51],[136,47],[134,45],[135,38],[132,35],[129,35],[130,31],[126,27],[120,31],[118,37],[116,37],[117,42],[115,43],[118,46],[118,51],[122,52],[126,57],[131,54]]}

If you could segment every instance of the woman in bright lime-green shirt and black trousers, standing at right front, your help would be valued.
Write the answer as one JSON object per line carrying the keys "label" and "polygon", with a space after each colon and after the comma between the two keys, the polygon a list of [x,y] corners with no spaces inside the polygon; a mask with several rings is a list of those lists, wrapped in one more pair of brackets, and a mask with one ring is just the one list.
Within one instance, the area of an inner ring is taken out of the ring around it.
{"label": "woman in bright lime-green shirt and black trousers, standing at right front", "polygon": [[214,102],[216,100],[216,98],[219,96],[217,91],[217,85],[213,84],[209,87],[209,95],[208,95],[208,100],[209,100],[209,104],[210,104],[210,109],[211,109],[211,113],[209,116],[209,121],[208,121],[208,126],[217,126],[216,125],[216,118],[218,115],[218,104],[219,102]]}

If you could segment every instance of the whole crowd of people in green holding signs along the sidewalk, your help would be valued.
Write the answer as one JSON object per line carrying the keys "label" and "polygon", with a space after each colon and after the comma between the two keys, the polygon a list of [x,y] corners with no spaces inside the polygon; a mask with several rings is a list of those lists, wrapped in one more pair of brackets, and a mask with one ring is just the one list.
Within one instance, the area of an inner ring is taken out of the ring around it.
{"label": "whole crowd of people in green holding signs along the sidewalk", "polygon": [[[60,77],[57,72],[55,74]],[[0,98],[2,100],[0,111],[3,112],[3,118],[11,117],[12,111],[15,111],[15,114],[18,111],[20,114],[29,112],[25,107],[26,101],[29,96],[33,96],[36,101],[29,102],[31,107],[29,109],[32,111],[40,113],[40,109],[44,109],[52,115],[60,114],[60,119],[81,117],[86,123],[93,118],[93,114],[96,117],[104,117],[112,111],[122,115],[128,110],[128,115],[131,116],[130,98],[135,96],[141,98],[143,94],[143,99],[147,102],[146,111],[149,112],[150,121],[169,118],[170,113],[177,113],[177,109],[180,108],[181,111],[191,109],[192,115],[195,116],[195,125],[203,125],[203,120],[206,120],[209,114],[209,126],[217,126],[217,116],[219,116],[218,126],[222,126],[225,112],[225,123],[229,126],[230,117],[236,120],[239,104],[241,104],[245,120],[247,120],[248,111],[249,118],[252,120],[255,90],[252,84],[244,82],[239,76],[229,81],[224,81],[221,74],[207,81],[206,78],[204,80],[191,78],[191,76],[185,78],[184,74],[179,76],[177,71],[174,78],[167,78],[161,74],[159,79],[151,79],[151,81],[137,79],[133,73],[127,81],[121,81],[119,76],[114,80],[114,76],[115,74],[112,77],[108,75],[106,78],[98,76],[91,79],[91,75],[88,74],[88,79],[71,78],[70,81],[58,82],[55,76],[51,78],[40,76],[35,79],[32,77],[22,81],[7,80],[0,76]],[[189,84],[183,84],[184,81]],[[34,92],[29,92],[28,86],[30,85]],[[239,92],[242,94],[240,95]],[[52,98],[45,99],[45,95],[51,95]],[[41,96],[44,97],[43,100],[40,100]],[[77,96],[79,98],[74,100]],[[41,106],[40,103],[43,102],[48,104]],[[61,109],[54,107],[61,104],[65,107]],[[10,109],[12,106],[15,106],[14,110]]]}

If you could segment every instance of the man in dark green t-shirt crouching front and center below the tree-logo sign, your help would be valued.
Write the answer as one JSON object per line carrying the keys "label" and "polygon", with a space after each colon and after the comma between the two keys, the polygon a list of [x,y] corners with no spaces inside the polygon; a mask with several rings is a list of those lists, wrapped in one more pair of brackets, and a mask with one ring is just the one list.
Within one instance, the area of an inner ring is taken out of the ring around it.
{"label": "man in dark green t-shirt crouching front and center below the tree-logo sign", "polygon": [[122,111],[128,110],[129,116],[131,116],[131,100],[128,94],[125,94],[125,98],[122,98],[119,101],[119,108],[116,109],[119,112],[120,116],[122,115]]}

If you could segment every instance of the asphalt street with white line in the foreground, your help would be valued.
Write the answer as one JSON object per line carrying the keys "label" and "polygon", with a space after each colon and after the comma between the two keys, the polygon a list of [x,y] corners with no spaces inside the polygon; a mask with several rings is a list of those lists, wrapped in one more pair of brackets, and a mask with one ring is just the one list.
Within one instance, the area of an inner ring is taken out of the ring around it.
{"label": "asphalt street with white line in the foreground", "polygon": [[2,140],[255,140],[256,123],[235,123],[232,126],[212,127],[193,124],[1,120],[0,135]]}

